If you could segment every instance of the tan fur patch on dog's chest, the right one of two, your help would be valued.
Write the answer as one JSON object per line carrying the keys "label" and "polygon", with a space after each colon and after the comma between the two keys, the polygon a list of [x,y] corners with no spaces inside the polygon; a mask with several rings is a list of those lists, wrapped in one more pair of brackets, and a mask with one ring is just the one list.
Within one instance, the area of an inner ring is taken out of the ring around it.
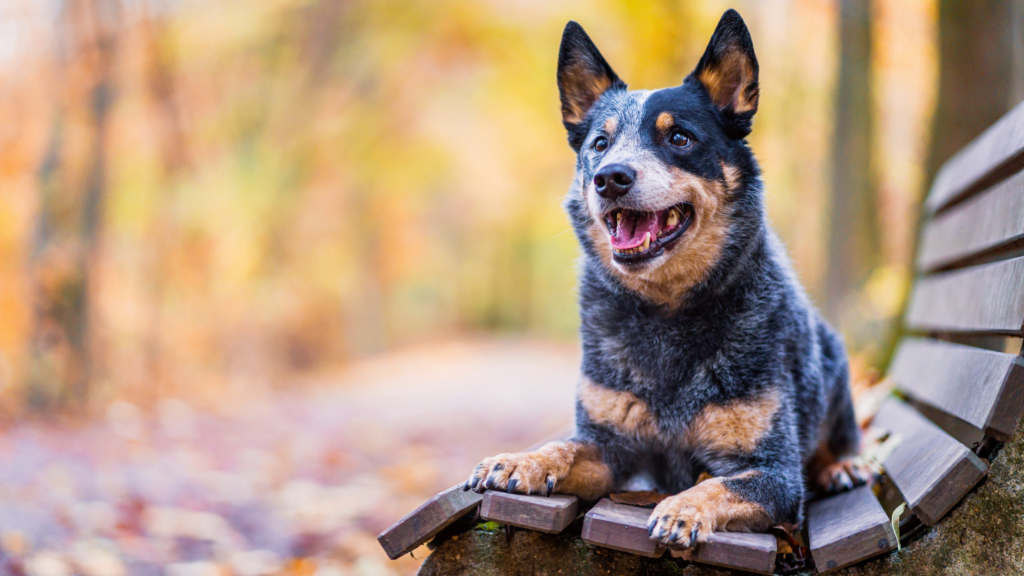
{"label": "tan fur patch on dog's chest, the right one of two", "polygon": [[750,453],[771,429],[772,417],[778,412],[777,390],[759,398],[712,404],[690,423],[686,443],[717,452]]}

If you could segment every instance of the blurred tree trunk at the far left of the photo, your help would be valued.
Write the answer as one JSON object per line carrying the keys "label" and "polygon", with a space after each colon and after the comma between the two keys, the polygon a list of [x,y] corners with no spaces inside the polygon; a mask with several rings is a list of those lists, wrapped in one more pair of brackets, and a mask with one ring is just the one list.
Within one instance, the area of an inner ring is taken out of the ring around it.
{"label": "blurred tree trunk at the far left of the photo", "polygon": [[[118,15],[115,0],[72,0],[60,7],[57,86],[62,93],[39,171],[32,250],[35,301],[28,400],[37,411],[84,406],[95,367],[91,273],[106,188],[113,23]],[[72,125],[81,132],[73,135]],[[81,170],[75,169],[73,154],[83,161]]]}

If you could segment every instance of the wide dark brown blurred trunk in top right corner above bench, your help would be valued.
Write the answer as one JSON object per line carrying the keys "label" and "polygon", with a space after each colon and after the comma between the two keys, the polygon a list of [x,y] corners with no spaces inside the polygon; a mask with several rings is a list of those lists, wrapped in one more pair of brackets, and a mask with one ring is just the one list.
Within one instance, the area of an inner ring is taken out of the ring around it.
{"label": "wide dark brown blurred trunk in top right corner above bench", "polygon": [[1024,98],[1024,0],[939,0],[939,97],[928,182]]}

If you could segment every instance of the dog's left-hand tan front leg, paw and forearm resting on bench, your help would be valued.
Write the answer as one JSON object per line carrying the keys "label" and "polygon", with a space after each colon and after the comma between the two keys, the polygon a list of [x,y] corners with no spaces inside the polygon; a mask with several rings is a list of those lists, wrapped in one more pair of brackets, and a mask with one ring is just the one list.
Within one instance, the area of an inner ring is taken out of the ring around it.
{"label": "dog's left-hand tan front leg, paw and forearm resting on bench", "polygon": [[600,449],[573,440],[551,442],[532,452],[486,458],[470,475],[465,490],[505,490],[516,494],[574,494],[596,500],[612,487],[611,469]]}

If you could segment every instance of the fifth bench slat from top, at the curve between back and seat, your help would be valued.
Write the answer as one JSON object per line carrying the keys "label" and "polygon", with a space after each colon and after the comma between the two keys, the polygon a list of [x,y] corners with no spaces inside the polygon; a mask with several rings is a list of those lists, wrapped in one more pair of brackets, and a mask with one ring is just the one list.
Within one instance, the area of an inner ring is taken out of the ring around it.
{"label": "fifth bench slat from top, at the curve between back and seat", "polygon": [[883,462],[918,518],[934,525],[988,471],[988,464],[913,408],[889,399],[874,425],[901,441]]}

